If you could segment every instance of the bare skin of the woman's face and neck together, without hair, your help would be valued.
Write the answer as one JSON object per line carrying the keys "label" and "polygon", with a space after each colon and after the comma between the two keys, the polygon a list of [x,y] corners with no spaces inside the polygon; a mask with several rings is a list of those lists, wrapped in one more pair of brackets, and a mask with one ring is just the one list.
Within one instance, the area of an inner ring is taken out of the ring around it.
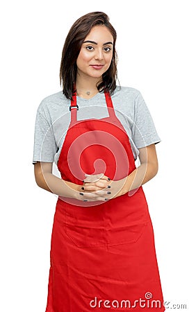
{"label": "bare skin of the woman's face and neck together, without hair", "polygon": [[[110,66],[112,57],[113,36],[106,26],[94,26],[85,37],[76,61],[76,89],[79,96],[90,98],[85,95],[85,90],[89,90],[92,96],[97,94],[97,83]],[[94,68],[92,65],[102,67]]]}

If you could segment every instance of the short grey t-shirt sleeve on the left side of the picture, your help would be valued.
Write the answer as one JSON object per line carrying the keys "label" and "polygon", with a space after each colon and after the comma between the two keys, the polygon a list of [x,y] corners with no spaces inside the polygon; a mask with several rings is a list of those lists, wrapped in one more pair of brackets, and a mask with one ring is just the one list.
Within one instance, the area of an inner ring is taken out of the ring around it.
{"label": "short grey t-shirt sleeve on the left side of the picture", "polygon": [[35,119],[33,164],[35,162],[54,162],[56,148],[56,140],[50,118],[39,107]]}

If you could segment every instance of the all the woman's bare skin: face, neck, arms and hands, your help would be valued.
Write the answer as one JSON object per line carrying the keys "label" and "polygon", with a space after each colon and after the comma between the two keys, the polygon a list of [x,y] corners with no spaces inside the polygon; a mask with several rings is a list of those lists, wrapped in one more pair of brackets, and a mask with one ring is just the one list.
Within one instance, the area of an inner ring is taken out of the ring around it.
{"label": "all the woman's bare skin: face, neck, arms and hands", "polygon": [[[89,42],[90,41],[90,42]],[[113,36],[106,26],[95,26],[85,38],[77,59],[76,89],[79,96],[91,98],[97,94],[97,83],[110,66],[113,53]],[[96,67],[99,65],[99,67]],[[102,65],[102,66],[101,66]],[[90,92],[90,96],[86,92]],[[140,166],[128,177],[119,181],[108,180],[103,173],[87,175],[83,185],[67,182],[52,173],[52,163],[37,162],[35,180],[39,187],[58,196],[77,200],[110,200],[138,189],[158,172],[158,159],[154,144],[139,149]]]}

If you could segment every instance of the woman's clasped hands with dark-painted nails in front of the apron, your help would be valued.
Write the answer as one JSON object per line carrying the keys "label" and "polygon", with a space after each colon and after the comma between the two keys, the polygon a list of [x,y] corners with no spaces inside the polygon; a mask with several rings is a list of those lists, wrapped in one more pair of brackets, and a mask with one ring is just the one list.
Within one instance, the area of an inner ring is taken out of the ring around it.
{"label": "woman's clasped hands with dark-painted nails in front of the apron", "polygon": [[118,181],[110,180],[104,173],[85,175],[83,185],[79,187],[79,200],[104,201],[123,195],[122,188],[126,178]]}

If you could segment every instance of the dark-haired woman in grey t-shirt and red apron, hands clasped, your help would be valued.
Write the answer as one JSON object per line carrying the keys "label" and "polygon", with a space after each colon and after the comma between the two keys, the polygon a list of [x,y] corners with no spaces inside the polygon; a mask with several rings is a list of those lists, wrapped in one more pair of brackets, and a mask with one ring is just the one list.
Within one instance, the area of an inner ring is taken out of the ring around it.
{"label": "dark-haired woman in grey t-shirt and red apron, hands clasped", "polygon": [[63,92],[38,108],[35,180],[58,195],[46,312],[165,310],[141,187],[158,171],[160,139],[140,92],[116,86],[115,42],[104,12],[78,19],[63,48]]}

